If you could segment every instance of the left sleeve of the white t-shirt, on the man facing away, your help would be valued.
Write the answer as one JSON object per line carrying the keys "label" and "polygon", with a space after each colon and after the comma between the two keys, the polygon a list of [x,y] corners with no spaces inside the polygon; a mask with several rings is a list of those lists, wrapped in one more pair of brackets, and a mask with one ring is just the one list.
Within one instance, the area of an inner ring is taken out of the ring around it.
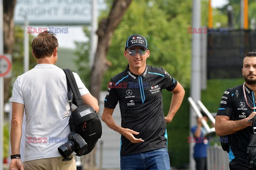
{"label": "left sleeve of the white t-shirt, on the man facing away", "polygon": [[18,77],[13,84],[11,102],[24,105],[24,100],[20,89],[20,77]]}

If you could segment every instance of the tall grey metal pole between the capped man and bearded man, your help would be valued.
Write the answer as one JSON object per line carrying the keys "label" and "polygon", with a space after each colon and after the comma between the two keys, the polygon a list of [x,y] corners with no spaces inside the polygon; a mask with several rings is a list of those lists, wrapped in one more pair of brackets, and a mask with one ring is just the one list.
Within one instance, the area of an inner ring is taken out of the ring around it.
{"label": "tall grey metal pole between the capped man and bearded man", "polygon": [[[192,27],[198,29],[200,27],[201,21],[201,1],[193,0],[193,10],[192,10]],[[199,33],[193,33],[192,35],[192,61],[191,61],[191,86],[190,86],[190,96],[195,100],[201,100],[201,61],[200,61],[200,36]],[[196,114],[193,108],[190,106],[190,127],[196,123]],[[193,134],[190,135],[193,136]],[[189,163],[190,170],[195,169],[195,162],[193,159],[193,148],[194,143],[189,145]]]}

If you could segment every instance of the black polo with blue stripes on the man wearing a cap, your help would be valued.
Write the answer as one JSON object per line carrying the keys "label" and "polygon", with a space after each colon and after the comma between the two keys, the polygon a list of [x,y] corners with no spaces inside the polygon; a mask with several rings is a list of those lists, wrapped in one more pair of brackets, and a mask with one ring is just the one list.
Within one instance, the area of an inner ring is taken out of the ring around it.
{"label": "black polo with blue stripes on the man wearing a cap", "polygon": [[141,75],[133,74],[128,65],[110,80],[104,106],[115,108],[119,101],[122,127],[139,132],[134,137],[144,140],[131,143],[121,135],[121,156],[167,147],[162,89],[176,86],[177,80],[163,68],[150,65]]}

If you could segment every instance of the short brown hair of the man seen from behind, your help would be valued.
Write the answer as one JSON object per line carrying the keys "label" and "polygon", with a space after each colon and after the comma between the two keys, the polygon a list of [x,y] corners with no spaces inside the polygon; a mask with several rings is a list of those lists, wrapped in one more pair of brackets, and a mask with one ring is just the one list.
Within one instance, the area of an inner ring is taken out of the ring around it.
{"label": "short brown hair of the man seen from behind", "polygon": [[36,58],[50,57],[54,48],[58,47],[55,33],[44,31],[39,33],[32,41],[31,47]]}

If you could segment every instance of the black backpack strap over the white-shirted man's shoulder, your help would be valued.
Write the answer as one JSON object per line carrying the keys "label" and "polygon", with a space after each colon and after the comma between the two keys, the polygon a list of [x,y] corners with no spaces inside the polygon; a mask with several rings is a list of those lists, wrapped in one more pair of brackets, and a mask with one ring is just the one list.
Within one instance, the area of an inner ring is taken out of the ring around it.
{"label": "black backpack strap over the white-shirted man's shoulder", "polygon": [[[67,78],[68,99],[69,99],[70,105],[71,105],[71,103],[74,103],[75,105],[77,105],[77,107],[78,106],[83,106],[84,102],[83,102],[83,99],[82,99],[81,94],[79,92],[79,89],[78,89],[76,79],[74,77],[73,72],[69,69],[63,69],[63,71],[65,72],[66,78]],[[71,94],[70,94],[70,89],[72,91]],[[70,101],[70,99],[71,99],[71,101]]]}

